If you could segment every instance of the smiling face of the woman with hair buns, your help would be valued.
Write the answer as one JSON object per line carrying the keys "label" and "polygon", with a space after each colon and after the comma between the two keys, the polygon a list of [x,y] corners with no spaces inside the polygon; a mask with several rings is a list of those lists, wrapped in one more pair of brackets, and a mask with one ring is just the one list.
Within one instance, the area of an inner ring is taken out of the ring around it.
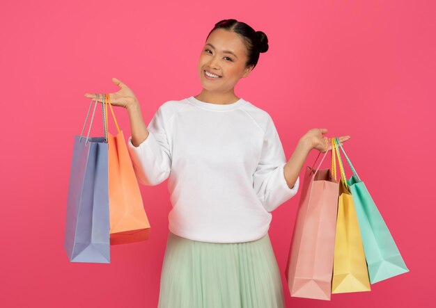
{"label": "smiling face of the woman with hair buns", "polygon": [[[225,29],[216,29],[210,33],[201,50],[198,61],[198,74],[205,90],[228,92],[239,79],[245,78],[253,65],[245,66],[247,49],[238,34]],[[205,71],[218,75],[209,77]]]}

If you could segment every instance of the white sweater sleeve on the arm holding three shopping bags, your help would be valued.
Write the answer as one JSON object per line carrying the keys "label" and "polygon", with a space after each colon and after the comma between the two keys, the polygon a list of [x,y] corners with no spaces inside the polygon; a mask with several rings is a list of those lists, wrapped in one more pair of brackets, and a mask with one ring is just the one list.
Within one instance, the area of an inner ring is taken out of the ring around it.
{"label": "white sweater sleeve on the arm holding three shopping bags", "polygon": [[260,160],[253,175],[254,190],[268,212],[277,209],[298,191],[299,177],[293,188],[289,188],[283,169],[285,165],[286,156],[279,133],[270,117],[265,130]]}

